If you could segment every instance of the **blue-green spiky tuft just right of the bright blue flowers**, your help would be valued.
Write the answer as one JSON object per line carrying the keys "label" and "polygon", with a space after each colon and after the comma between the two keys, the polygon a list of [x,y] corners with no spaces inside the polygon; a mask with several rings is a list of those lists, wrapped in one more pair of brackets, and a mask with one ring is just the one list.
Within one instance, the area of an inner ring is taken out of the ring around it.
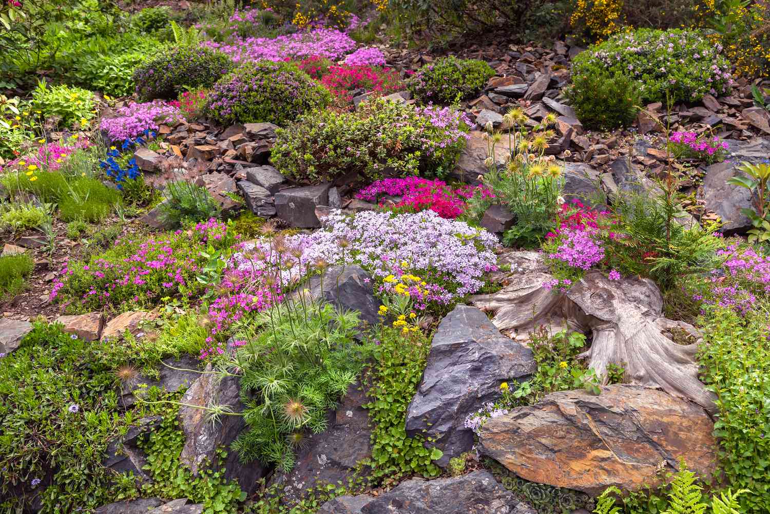
{"label": "blue-green spiky tuft just right of the bright blue flowers", "polygon": [[170,180],[163,195],[164,201],[158,205],[159,219],[169,227],[217,218],[222,211],[206,187],[189,180]]}

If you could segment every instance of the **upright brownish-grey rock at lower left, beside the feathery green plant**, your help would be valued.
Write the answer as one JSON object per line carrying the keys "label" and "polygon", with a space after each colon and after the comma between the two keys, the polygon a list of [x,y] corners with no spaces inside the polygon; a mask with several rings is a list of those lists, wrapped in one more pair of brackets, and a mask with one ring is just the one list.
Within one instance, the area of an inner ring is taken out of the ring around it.
{"label": "upright brownish-grey rock at lower left, beside the feathery green plant", "polygon": [[[206,407],[209,402],[229,405],[233,412],[243,412],[238,378],[225,377],[219,380],[216,374],[199,375],[182,397],[182,403],[187,405]],[[246,428],[243,416],[222,416],[219,422],[213,424],[209,422],[208,412],[202,408],[182,406],[179,408],[179,422],[185,433],[185,445],[179,460],[193,474],[199,474],[209,465],[223,466],[226,469],[225,479],[235,480],[249,495],[256,491],[257,480],[265,475],[266,470],[256,461],[240,462],[238,452],[229,449],[235,438]],[[220,447],[228,450],[224,462],[219,462],[216,455]]]}

